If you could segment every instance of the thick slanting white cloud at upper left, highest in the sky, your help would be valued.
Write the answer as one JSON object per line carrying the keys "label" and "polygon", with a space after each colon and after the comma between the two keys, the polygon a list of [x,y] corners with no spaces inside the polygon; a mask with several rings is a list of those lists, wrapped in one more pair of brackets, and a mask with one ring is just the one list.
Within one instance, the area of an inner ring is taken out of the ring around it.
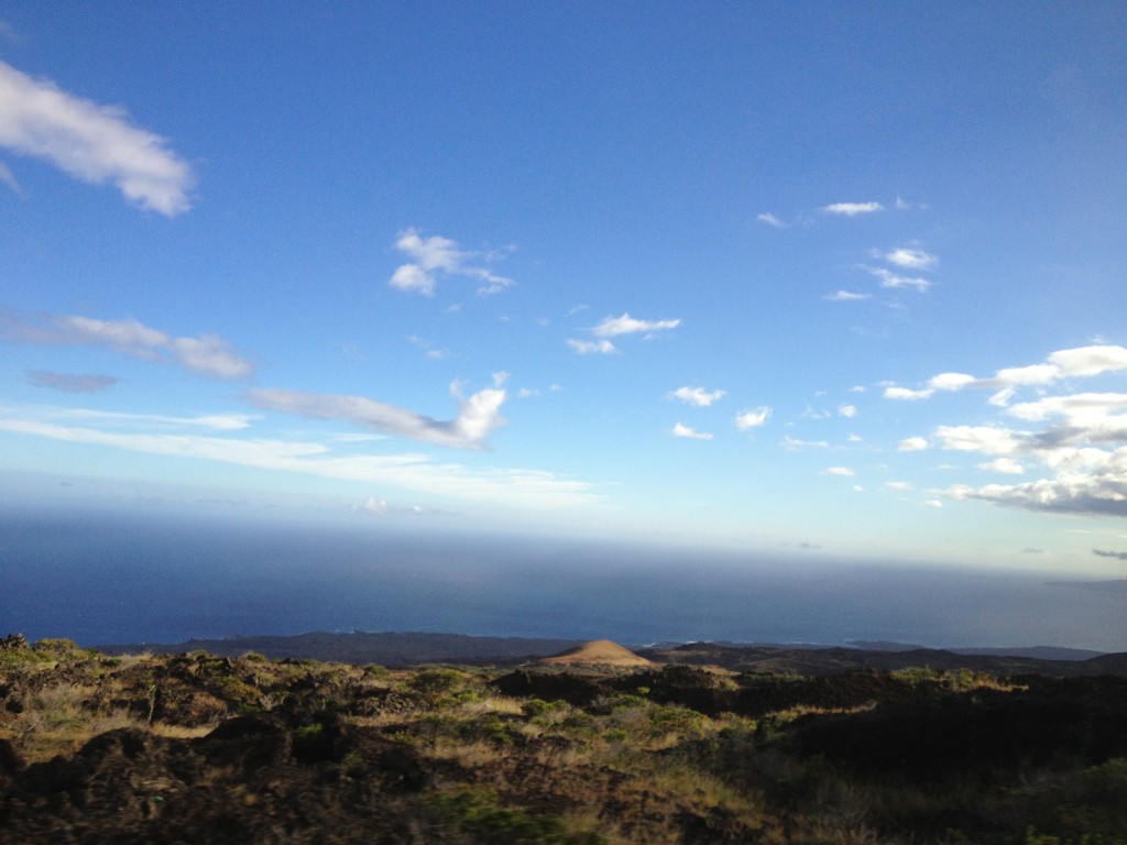
{"label": "thick slanting white cloud at upper left, highest in the sky", "polygon": [[194,177],[165,139],[100,106],[0,62],[0,146],[50,161],[77,179],[115,185],[132,203],[166,216],[190,207]]}

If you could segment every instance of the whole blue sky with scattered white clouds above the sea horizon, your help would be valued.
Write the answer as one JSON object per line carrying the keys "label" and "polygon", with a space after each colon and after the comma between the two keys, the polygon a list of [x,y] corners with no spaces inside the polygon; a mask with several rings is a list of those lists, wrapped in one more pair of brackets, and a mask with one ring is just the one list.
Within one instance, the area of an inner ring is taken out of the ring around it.
{"label": "whole blue sky with scattered white clouds above the sea horizon", "polygon": [[0,495],[1121,577],[1125,45],[0,2]]}

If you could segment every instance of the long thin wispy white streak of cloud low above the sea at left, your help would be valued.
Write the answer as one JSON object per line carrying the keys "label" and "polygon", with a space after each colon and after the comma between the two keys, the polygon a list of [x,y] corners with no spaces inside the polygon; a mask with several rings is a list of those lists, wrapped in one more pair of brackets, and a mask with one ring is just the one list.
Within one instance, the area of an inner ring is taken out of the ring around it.
{"label": "long thin wispy white streak of cloud low above the sea at left", "polygon": [[263,470],[391,486],[474,504],[554,509],[594,502],[592,486],[550,472],[470,469],[420,454],[335,455],[321,443],[184,434],[121,434],[0,416],[0,430]]}

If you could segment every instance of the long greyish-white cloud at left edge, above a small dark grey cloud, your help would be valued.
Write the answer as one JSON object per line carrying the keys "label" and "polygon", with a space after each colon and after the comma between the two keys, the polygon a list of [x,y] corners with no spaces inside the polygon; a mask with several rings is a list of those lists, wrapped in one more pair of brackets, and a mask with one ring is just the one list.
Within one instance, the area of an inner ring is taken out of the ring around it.
{"label": "long greyish-white cloud at left edge, above a small dark grey cloud", "polygon": [[218,335],[172,337],[132,319],[47,314],[34,323],[7,317],[0,319],[0,338],[47,346],[103,346],[154,362],[168,354],[186,370],[218,379],[245,379],[255,371],[254,364]]}

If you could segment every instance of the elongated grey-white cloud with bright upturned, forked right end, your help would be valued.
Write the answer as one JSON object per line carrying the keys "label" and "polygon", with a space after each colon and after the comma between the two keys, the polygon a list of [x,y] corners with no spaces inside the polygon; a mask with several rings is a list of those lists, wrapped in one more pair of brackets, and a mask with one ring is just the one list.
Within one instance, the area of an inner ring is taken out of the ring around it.
{"label": "elongated grey-white cloud with bright upturned, forked right end", "polygon": [[500,406],[505,402],[502,377],[495,376],[492,388],[468,398],[462,397],[458,382],[450,386],[458,400],[459,415],[452,420],[436,420],[421,413],[378,402],[365,397],[304,393],[296,390],[259,389],[248,394],[257,407],[295,413],[311,419],[356,422],[382,434],[410,437],[452,448],[482,450],[486,438],[505,424]]}

